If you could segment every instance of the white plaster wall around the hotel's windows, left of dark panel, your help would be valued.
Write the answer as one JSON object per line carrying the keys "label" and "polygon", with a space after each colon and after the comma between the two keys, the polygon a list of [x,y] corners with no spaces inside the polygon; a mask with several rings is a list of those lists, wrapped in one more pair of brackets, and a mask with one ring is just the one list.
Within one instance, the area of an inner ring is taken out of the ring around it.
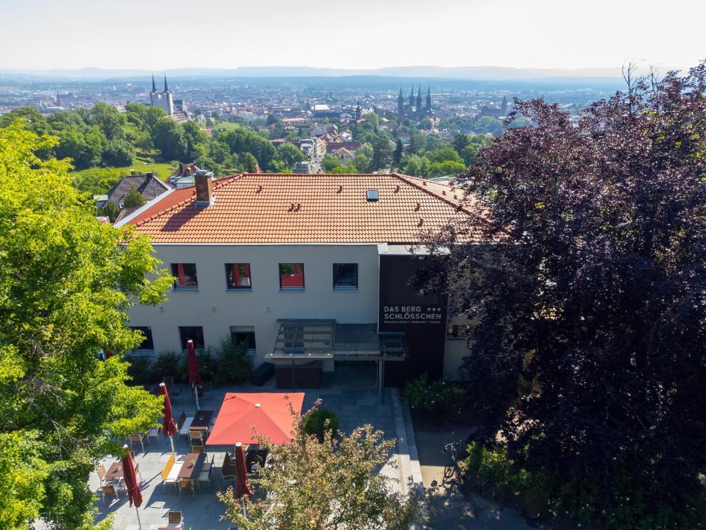
{"label": "white plaster wall around the hotel's windows, left of dark panel", "polygon": [[[203,326],[206,346],[218,346],[230,326],[255,326],[255,365],[273,351],[277,319],[378,319],[377,245],[160,245],[172,263],[196,263],[198,290],[173,290],[159,307],[134,307],[131,326],[150,326],[155,352],[181,351],[179,326]],[[249,263],[251,292],[227,290],[226,263]],[[304,292],[280,292],[279,264],[304,263]],[[333,264],[358,264],[358,290],[333,290]]]}

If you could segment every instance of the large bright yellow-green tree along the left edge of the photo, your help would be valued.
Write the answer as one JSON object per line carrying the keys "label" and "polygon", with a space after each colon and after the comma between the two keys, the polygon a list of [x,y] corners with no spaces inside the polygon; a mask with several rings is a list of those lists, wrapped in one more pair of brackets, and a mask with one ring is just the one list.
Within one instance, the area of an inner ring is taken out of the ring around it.
{"label": "large bright yellow-green tree along the left edge of the photo", "polygon": [[[9,529],[37,517],[59,530],[90,524],[89,473],[121,454],[114,440],[157,425],[162,408],[126,385],[120,354],[142,340],[125,310],[163,302],[172,278],[148,240],[96,220],[68,163],[33,154],[53,145],[20,123],[0,129],[0,526]],[[101,348],[116,355],[97,360]]]}

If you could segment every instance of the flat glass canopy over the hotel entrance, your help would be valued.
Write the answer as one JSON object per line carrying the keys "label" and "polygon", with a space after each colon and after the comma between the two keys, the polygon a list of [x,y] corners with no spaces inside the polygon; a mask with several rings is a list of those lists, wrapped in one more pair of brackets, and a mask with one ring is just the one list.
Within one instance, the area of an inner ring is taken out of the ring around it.
{"label": "flat glass canopy over the hotel entrance", "polygon": [[272,360],[405,360],[404,334],[378,334],[377,324],[278,320]]}

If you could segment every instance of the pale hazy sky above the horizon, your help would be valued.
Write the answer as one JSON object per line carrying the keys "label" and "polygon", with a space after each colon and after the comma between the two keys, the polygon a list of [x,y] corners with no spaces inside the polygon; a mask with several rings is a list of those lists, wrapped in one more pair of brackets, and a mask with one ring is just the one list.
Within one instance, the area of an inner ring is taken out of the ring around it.
{"label": "pale hazy sky above the horizon", "polygon": [[0,69],[692,66],[704,0],[0,0]]}

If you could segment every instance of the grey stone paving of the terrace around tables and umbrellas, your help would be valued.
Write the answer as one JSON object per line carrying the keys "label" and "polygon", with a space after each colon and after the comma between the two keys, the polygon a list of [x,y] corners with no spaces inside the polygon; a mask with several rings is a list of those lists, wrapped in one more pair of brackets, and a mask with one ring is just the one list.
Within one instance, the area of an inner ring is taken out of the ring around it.
{"label": "grey stone paving of the terrace around tables and umbrellas", "polygon": [[[316,401],[321,398],[322,406],[333,410],[339,420],[339,428],[343,432],[350,432],[353,428],[370,423],[375,428],[383,430],[387,437],[401,437],[406,440],[405,424],[401,418],[399,394],[396,389],[385,389],[385,401],[381,403],[380,396],[375,384],[375,368],[366,365],[350,365],[345,370],[339,370],[334,375],[324,380],[322,389],[304,389],[304,406],[302,411],[308,410]],[[199,405],[203,410],[215,411],[217,415],[226,392],[285,392],[275,389],[274,378],[270,379],[265,387],[253,387],[250,384],[241,386],[217,387],[208,392]],[[174,418],[179,418],[181,411],[194,411],[193,396],[184,385],[180,399],[172,400]],[[177,459],[190,452],[189,441],[184,436],[177,436],[174,440],[174,450],[177,452]],[[192,530],[221,530],[229,529],[231,524],[221,521],[220,517],[224,513],[224,506],[217,500],[216,491],[221,488],[220,467],[225,457],[225,451],[232,451],[233,447],[218,446],[213,450],[206,446],[208,459],[215,455],[215,471],[212,473],[211,490],[206,485],[201,489],[196,488],[196,494],[190,491],[179,493],[174,489],[174,485],[167,485],[162,488],[162,469],[169,455],[169,439],[162,436],[157,441],[152,438],[148,444],[145,437],[145,452],[141,451],[140,445],[134,445],[135,462],[140,466],[140,473],[143,481],[141,490],[143,504],[139,508],[140,520],[143,530],[156,530],[167,525],[167,512],[169,510],[181,510],[184,517],[184,527]],[[390,458],[390,462],[383,467],[381,473],[390,478],[390,486],[400,490],[406,489],[406,481],[402,476],[409,476],[409,454],[405,442],[397,444],[395,454]],[[106,469],[115,459],[107,457],[102,461]],[[177,464],[179,465],[179,464]],[[397,466],[397,467],[395,467]],[[138,477],[139,478],[139,477]],[[92,490],[100,490],[100,482],[97,473],[92,473],[89,480]],[[100,493],[99,493],[100,497]],[[138,520],[135,507],[128,505],[128,500],[124,490],[120,492],[120,499],[107,497],[108,504],[98,500],[96,507],[99,514],[97,521],[102,521],[107,514],[114,513],[114,528],[124,530],[138,529]],[[171,525],[174,526],[174,525]]]}

